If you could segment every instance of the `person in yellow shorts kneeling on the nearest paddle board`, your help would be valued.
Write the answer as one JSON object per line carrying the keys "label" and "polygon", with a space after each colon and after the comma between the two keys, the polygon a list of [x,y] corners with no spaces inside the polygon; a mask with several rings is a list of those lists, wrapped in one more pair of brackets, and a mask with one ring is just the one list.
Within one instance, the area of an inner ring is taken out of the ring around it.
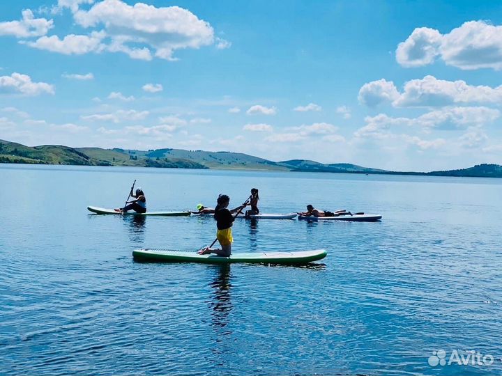
{"label": "person in yellow shorts kneeling on the nearest paddle board", "polygon": [[197,253],[201,255],[216,253],[218,256],[229,257],[231,254],[231,244],[234,242],[234,238],[231,235],[231,226],[234,224],[234,217],[230,210],[227,209],[230,198],[226,194],[220,194],[217,203],[218,205],[215,207],[216,227],[218,228],[216,230],[216,238],[220,242],[221,249],[206,247]]}

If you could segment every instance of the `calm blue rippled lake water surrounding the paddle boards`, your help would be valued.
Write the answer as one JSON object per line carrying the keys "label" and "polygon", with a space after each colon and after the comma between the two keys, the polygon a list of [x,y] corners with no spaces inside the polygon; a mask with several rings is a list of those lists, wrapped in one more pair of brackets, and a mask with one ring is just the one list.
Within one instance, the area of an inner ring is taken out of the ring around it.
{"label": "calm blue rippled lake water surrounding the paddle boards", "polygon": [[[383,220],[234,224],[234,251],[328,249],[312,267],[135,263],[137,247],[199,249],[215,222],[87,212],[134,179],[149,210],[257,187],[262,212]],[[2,375],[502,372],[502,180],[1,164],[0,180]],[[437,350],[494,363],[429,366]]]}

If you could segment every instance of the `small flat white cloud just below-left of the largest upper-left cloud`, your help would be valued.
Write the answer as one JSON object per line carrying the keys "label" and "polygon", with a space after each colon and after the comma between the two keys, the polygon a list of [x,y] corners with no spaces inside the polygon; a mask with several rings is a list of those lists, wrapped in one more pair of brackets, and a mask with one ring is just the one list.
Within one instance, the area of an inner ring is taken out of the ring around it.
{"label": "small flat white cloud just below-left of the largest upper-left cloud", "polygon": [[104,31],[93,31],[89,36],[69,34],[63,39],[59,39],[58,36],[43,36],[35,42],[26,42],[26,44],[37,49],[59,52],[59,54],[82,55],[89,52],[102,52],[105,49],[105,45],[102,44],[105,36]]}

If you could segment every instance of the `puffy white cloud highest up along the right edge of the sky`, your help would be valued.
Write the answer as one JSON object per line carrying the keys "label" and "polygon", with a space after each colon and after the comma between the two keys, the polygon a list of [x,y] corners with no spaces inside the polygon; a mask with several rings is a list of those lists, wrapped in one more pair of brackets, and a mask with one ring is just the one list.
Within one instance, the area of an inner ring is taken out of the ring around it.
{"label": "puffy white cloud highest up along the right edge of the sky", "polygon": [[396,60],[404,67],[427,65],[437,56],[463,70],[501,70],[502,26],[469,21],[446,34],[420,27],[396,49]]}

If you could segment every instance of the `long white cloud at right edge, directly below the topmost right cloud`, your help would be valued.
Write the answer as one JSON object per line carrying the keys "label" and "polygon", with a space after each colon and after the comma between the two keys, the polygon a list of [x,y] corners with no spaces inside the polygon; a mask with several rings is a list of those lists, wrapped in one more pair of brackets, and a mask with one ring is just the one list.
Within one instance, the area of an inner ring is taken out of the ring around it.
{"label": "long white cloud at right edge, directly below the topmost right cloud", "polygon": [[[391,102],[394,107],[442,107],[452,104],[502,103],[502,86],[472,86],[466,81],[446,81],[434,76],[412,79],[404,84],[400,93],[392,82],[382,85],[382,80],[363,85],[359,91],[359,100],[368,104]],[[385,81],[385,80],[383,80]],[[385,86],[385,90],[381,89]],[[379,88],[371,90],[370,88]],[[392,95],[389,95],[392,93]]]}

